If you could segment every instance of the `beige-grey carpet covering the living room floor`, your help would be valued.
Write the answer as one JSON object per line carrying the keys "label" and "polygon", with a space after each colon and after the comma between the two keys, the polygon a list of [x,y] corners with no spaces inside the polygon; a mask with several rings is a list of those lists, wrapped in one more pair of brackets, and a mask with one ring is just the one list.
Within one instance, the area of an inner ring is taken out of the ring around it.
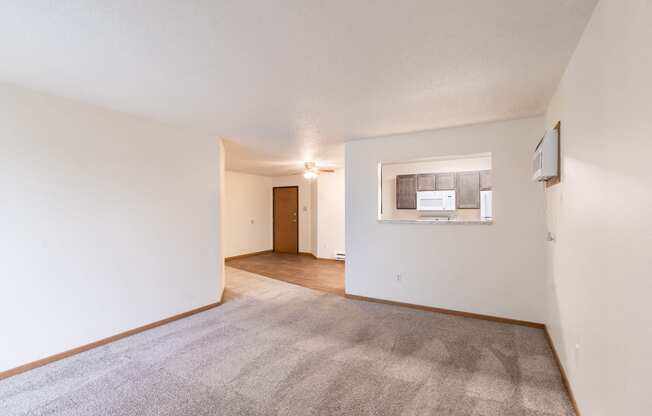
{"label": "beige-grey carpet covering the living room floor", "polygon": [[0,414],[573,414],[541,330],[227,278],[218,308],[0,381]]}

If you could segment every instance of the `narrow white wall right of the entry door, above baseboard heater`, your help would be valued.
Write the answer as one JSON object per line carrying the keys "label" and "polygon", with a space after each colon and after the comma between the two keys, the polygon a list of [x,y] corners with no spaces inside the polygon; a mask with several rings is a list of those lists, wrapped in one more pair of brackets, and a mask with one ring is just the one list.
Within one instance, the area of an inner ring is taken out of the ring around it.
{"label": "narrow white wall right of the entry door, above baseboard heater", "polygon": [[335,258],[344,251],[344,169],[319,175],[317,187],[317,252],[320,258]]}

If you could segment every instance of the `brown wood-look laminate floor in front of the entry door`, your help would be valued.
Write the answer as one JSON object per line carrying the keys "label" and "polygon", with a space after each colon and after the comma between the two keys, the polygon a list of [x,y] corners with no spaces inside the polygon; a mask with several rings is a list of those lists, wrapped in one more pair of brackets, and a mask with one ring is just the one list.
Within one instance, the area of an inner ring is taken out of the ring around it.
{"label": "brown wood-look laminate floor in front of the entry door", "polygon": [[227,260],[226,265],[344,296],[344,262],[315,259],[311,256],[281,253],[263,253]]}

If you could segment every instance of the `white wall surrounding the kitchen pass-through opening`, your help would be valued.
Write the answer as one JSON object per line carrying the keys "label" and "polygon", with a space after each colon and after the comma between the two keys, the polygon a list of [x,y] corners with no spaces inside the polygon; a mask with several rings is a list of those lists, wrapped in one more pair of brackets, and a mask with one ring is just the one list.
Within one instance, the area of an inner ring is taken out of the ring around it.
{"label": "white wall surrounding the kitchen pass-through opening", "polygon": [[[543,192],[530,181],[543,125],[530,118],[347,143],[347,293],[543,322]],[[378,162],[485,152],[494,224],[377,221]]]}

